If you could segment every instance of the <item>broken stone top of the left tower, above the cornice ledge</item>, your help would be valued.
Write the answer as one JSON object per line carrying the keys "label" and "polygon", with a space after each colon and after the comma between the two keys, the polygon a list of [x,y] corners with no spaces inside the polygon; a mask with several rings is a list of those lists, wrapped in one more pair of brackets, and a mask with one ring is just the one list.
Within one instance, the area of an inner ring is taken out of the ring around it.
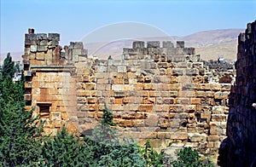
{"label": "broken stone top of the left tower, above the cornice ledge", "polygon": [[28,63],[63,66],[87,59],[88,50],[84,49],[82,42],[70,42],[63,50],[59,41],[59,33],[34,33],[34,29],[29,28],[25,34],[23,63],[27,66]]}

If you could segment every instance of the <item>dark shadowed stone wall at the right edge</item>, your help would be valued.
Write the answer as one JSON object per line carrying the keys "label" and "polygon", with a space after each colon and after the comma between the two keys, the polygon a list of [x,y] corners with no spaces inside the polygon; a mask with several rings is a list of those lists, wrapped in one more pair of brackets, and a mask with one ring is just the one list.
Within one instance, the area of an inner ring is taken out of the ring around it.
{"label": "dark shadowed stone wall at the right edge", "polygon": [[230,93],[228,166],[256,165],[256,21],[238,37],[236,84]]}

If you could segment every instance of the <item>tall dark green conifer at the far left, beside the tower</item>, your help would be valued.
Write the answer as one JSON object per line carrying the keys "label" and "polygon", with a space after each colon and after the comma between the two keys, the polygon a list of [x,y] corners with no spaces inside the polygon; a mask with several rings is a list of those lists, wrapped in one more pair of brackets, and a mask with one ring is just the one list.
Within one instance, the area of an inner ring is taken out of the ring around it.
{"label": "tall dark green conifer at the far left, beside the tower", "polygon": [[0,75],[0,165],[37,164],[43,124],[25,110],[24,77],[14,83],[15,66],[10,55]]}

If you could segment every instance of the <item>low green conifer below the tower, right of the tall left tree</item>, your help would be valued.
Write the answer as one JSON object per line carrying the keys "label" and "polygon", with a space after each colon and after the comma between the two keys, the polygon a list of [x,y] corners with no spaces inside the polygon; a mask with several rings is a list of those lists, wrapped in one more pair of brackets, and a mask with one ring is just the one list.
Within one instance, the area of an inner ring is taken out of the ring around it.
{"label": "low green conifer below the tower, right of the tall left tree", "polygon": [[65,126],[42,146],[42,166],[84,166],[83,145]]}

